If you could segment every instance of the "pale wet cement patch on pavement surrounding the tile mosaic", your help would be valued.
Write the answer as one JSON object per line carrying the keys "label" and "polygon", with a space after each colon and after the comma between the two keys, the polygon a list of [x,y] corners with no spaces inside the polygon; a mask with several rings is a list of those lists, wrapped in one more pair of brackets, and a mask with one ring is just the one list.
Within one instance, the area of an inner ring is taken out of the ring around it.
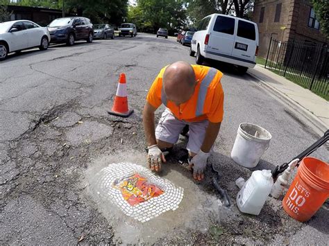
{"label": "pale wet cement patch on pavement surrounding the tile mosaic", "polygon": [[[117,207],[103,200],[98,195],[100,188],[96,173],[109,164],[127,161],[146,167],[146,155],[140,152],[121,152],[115,155],[99,157],[92,161],[86,171],[88,193],[98,205],[115,231],[117,243],[155,243],[161,238],[175,238],[178,229],[192,229],[207,233],[210,225],[225,220],[230,210],[222,206],[221,201],[212,194],[206,193],[200,184],[194,182],[192,175],[178,164],[166,163],[162,165],[160,177],[184,188],[184,197],[178,209],[167,211],[157,218],[141,223],[130,218]],[[170,236],[169,236],[170,235]]]}

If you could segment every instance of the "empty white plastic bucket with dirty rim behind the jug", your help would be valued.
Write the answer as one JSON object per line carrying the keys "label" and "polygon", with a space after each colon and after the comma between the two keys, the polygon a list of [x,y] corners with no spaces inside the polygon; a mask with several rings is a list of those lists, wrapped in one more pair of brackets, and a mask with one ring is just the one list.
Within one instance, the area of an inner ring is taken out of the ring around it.
{"label": "empty white plastic bucket with dirty rim behind the jug", "polygon": [[251,123],[241,123],[230,157],[241,166],[254,168],[269,148],[271,138],[271,133],[264,128]]}

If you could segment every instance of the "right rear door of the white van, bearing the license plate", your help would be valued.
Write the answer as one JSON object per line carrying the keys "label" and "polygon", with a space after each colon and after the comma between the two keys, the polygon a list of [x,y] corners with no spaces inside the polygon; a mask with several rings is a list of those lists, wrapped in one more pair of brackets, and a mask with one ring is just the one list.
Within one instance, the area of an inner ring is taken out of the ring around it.
{"label": "right rear door of the white van, bearing the license plate", "polygon": [[255,51],[258,46],[258,29],[250,21],[237,20],[237,35],[232,55],[235,58],[255,62]]}

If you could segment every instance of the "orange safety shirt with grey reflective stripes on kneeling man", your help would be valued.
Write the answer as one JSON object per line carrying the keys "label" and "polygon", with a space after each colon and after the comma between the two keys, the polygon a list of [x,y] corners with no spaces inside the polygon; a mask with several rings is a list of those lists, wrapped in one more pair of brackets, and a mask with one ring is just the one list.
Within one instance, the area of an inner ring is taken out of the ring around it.
{"label": "orange safety shirt with grey reflective stripes on kneeling man", "polygon": [[162,87],[162,76],[166,67],[162,68],[157,78],[153,81],[151,89],[146,96],[147,102],[158,108],[164,104],[178,120],[197,122],[208,119],[212,123],[223,120],[223,88],[221,77],[223,73],[212,67],[192,65],[196,76],[196,88],[194,94],[187,102],[180,104],[167,100]]}

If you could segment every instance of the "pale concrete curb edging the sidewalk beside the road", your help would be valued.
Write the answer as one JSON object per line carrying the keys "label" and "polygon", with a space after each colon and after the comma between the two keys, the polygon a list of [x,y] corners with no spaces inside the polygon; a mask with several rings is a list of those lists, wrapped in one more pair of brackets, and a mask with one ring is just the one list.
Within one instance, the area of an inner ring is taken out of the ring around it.
{"label": "pale concrete curb edging the sidewalk beside the road", "polygon": [[289,96],[285,95],[275,87],[269,85],[266,81],[262,80],[255,74],[249,71],[247,72],[247,74],[255,78],[256,80],[262,82],[262,85],[265,85],[265,87],[267,87],[266,89],[273,92],[273,95],[279,98],[282,101],[282,103],[287,104],[289,107],[292,107],[292,109],[294,109],[296,112],[301,114],[301,116],[303,116],[303,118],[305,118],[308,123],[311,123],[314,126],[313,128],[314,132],[319,134],[320,137],[323,136],[323,132],[326,132],[326,130],[328,130],[328,127],[326,126],[325,123],[323,123],[317,116],[312,114],[305,107],[297,103],[295,100],[292,100],[292,98],[289,98]]}

